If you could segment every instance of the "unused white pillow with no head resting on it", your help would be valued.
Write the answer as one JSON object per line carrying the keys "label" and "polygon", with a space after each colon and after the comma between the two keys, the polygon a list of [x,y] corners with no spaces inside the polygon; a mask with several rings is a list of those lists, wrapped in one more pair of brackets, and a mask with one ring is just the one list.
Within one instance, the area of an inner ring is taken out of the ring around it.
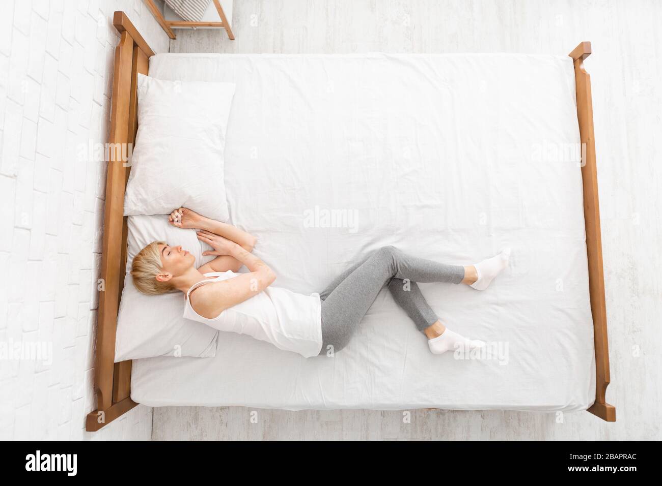
{"label": "unused white pillow with no head resting on it", "polygon": [[138,74],[138,134],[124,216],[184,206],[228,220],[223,151],[234,87]]}

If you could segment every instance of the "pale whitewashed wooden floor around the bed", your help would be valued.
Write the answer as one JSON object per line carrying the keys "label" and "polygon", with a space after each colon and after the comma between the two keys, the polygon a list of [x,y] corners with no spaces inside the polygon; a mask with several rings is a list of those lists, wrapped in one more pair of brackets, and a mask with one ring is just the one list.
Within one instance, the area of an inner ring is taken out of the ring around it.
{"label": "pale whitewashed wooden floor around the bed", "polygon": [[[583,412],[154,409],[154,439],[661,439],[662,2],[240,0],[234,42],[181,32],[171,52],[530,52],[592,42],[612,384],[618,421]],[[256,423],[252,422],[253,417]]]}

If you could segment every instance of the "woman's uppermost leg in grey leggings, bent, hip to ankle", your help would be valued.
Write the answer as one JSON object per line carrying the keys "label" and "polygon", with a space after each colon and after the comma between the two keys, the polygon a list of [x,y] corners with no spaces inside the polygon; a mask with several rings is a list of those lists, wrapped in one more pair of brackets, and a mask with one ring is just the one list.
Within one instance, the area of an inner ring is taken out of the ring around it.
{"label": "woman's uppermost leg in grey leggings, bent, hip to ankle", "polygon": [[350,341],[381,288],[394,276],[419,282],[455,284],[465,276],[463,266],[410,257],[394,247],[379,249],[352,270],[322,300],[323,344],[320,354],[326,352],[327,346],[339,351]]}

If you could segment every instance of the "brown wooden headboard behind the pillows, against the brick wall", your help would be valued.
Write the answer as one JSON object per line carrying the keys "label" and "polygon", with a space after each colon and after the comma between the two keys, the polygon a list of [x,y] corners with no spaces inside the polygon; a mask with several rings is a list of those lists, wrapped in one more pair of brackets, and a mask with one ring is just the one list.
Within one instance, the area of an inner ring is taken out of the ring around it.
{"label": "brown wooden headboard behind the pillows, against the brick wall", "polygon": [[132,152],[138,130],[136,81],[147,74],[154,51],[124,12],[115,12],[113,25],[120,35],[115,48],[111,131],[106,180],[101,281],[97,315],[97,348],[94,388],[97,409],[87,414],[86,430],[99,430],[136,405],[130,399],[131,362],[115,363],[117,311],[126,268],[126,218],[124,189],[130,171],[126,155]]}

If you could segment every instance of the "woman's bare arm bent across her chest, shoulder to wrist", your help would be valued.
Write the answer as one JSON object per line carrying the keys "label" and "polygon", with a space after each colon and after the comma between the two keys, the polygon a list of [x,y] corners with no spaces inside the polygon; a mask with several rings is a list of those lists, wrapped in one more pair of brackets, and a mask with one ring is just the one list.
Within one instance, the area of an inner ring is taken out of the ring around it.
{"label": "woman's bare arm bent across her chest, shoulder to wrist", "polygon": [[193,309],[208,319],[214,319],[225,309],[256,296],[276,279],[273,270],[258,257],[236,243],[229,243],[230,255],[246,265],[250,272],[201,286],[191,294]]}

